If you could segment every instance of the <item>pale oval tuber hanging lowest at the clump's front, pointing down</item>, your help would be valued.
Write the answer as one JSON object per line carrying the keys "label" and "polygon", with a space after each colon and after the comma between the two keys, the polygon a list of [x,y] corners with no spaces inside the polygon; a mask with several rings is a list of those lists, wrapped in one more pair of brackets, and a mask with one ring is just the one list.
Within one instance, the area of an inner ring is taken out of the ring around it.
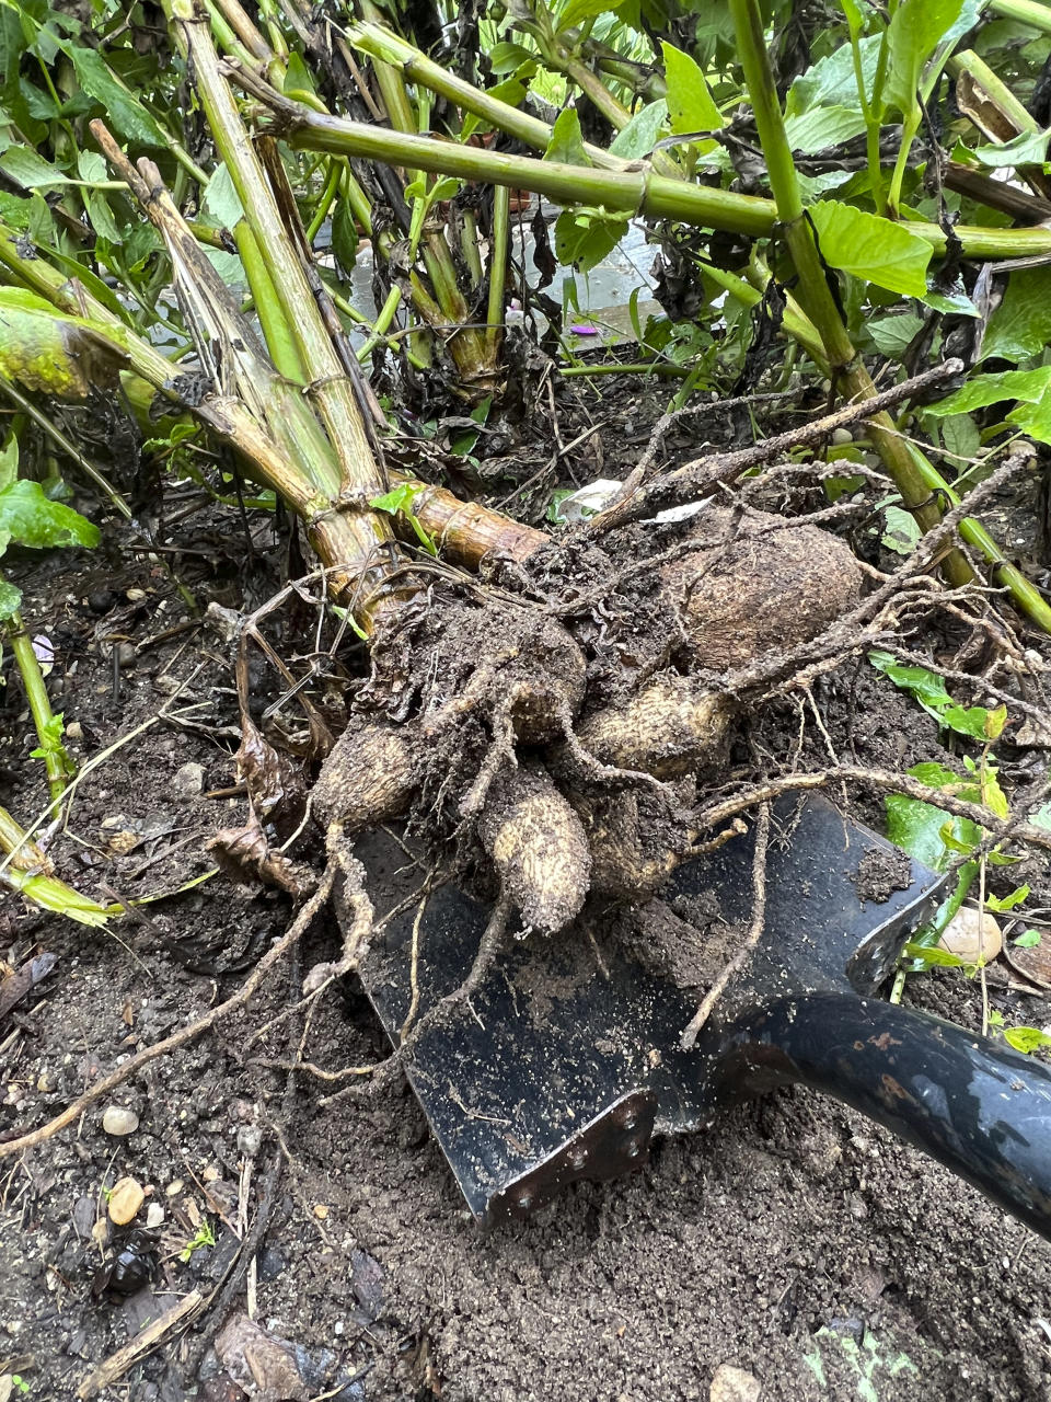
{"label": "pale oval tuber hanging lowest at the clump's front, pointing down", "polygon": [[580,819],[542,764],[520,764],[493,781],[478,833],[526,925],[554,935],[579,914],[591,854]]}

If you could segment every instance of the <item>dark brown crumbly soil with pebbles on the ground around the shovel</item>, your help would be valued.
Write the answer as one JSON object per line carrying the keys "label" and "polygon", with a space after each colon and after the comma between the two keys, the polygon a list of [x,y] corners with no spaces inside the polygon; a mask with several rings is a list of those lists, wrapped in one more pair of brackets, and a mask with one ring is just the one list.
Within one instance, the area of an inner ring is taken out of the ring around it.
{"label": "dark brown crumbly soil with pebbles on the ground around the shovel", "polygon": [[[207,559],[178,559],[202,603],[268,593],[269,527],[256,531],[251,573],[228,522]],[[104,930],[0,903],[1,956],[14,966],[41,949],[57,956],[0,1023],[3,1137],[43,1123],[123,1057],[228,997],[291,918],[275,890],[223,876],[186,889],[212,868],[205,840],[247,812],[228,792],[240,739],[228,651],[191,622],[163,559],[111,561],[27,557],[18,572],[25,614],[55,646],[49,686],[80,726],[76,757],[150,722],[81,782],[52,854],[88,892],[172,894]],[[116,691],[109,653],[121,641],[137,652],[125,653]],[[844,673],[817,691],[844,753],[901,767],[944,757],[935,722],[886,677]],[[0,802],[27,819],[46,794],[22,758],[15,686],[1,704]],[[786,753],[799,728],[795,707],[775,705],[753,740]],[[827,758],[821,735],[806,744]],[[1043,764],[1019,753],[1009,777],[1031,781]],[[881,801],[862,792],[853,812],[879,824]],[[1051,906],[1041,862],[1030,858],[1023,879]],[[873,866],[866,899],[897,880],[893,865]],[[680,913],[667,918],[671,927]],[[366,1080],[290,1078],[282,1066],[300,1039],[304,1059],[328,1071],[385,1054],[350,980],[305,1028],[280,1016],[304,972],[335,959],[339,944],[322,913],[244,1014],[0,1161],[0,1387],[18,1374],[29,1396],[73,1398],[146,1319],[196,1288],[207,1307],[102,1398],[234,1402],[238,1382],[254,1387],[251,1356],[256,1381],[259,1368],[269,1378],[252,1395],[273,1402],[678,1402],[708,1399],[723,1364],[758,1380],[764,1402],[1051,1399],[1051,1245],[820,1095],[743,1105],[705,1133],[659,1143],[632,1178],[576,1183],[530,1223],[481,1232],[399,1074],[322,1103]],[[909,980],[907,995],[981,1025],[981,990],[954,970]],[[1051,1022],[1047,998],[1009,990],[999,967],[989,995],[1009,1023]],[[135,1112],[133,1133],[104,1131],[111,1103]],[[139,1235],[97,1225],[125,1176],[146,1190]],[[249,1234],[273,1204],[248,1281],[238,1193]],[[121,1251],[129,1284],[143,1259],[157,1262],[123,1297],[112,1269]],[[286,1349],[238,1322],[249,1293],[256,1323]]]}

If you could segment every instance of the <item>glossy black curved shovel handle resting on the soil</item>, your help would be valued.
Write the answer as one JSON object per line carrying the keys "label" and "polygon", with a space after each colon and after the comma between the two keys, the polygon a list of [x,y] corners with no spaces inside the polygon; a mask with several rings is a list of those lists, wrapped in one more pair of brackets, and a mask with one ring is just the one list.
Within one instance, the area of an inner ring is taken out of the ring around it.
{"label": "glossy black curved shovel handle resting on the soil", "polygon": [[1051,1238],[1051,1066],[853,994],[779,998],[730,1029],[720,1099],[809,1085],[877,1120]]}

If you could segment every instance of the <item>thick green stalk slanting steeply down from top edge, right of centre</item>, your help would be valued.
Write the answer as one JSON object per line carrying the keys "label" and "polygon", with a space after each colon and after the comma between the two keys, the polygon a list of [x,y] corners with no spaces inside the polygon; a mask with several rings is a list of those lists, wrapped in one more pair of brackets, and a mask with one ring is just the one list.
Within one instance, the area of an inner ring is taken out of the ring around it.
{"label": "thick green stalk slanting steeply down from top edge, right of centre", "polygon": [[[799,279],[796,292],[799,304],[824,342],[825,358],[837,387],[848,398],[872,400],[876,397],[876,386],[872,383],[872,376],[863,360],[853,349],[839,308],[828,287],[825,268],[803,210],[799,179],[796,178],[792,147],[785,133],[785,121],[767,52],[758,3],[757,0],[730,0],[730,13],[737,35],[737,55],[744,70],[771,189],[781,217],[782,236]],[[870,435],[876,451],[883,458],[884,467],[901,494],[902,502],[916,519],[919,529],[925,534],[933,530],[940,520],[937,501],[928,489],[908,444],[898,436],[888,414],[884,412],[872,419]],[[953,551],[947,557],[946,573],[953,583],[966,583],[973,578],[967,561],[959,551]]]}

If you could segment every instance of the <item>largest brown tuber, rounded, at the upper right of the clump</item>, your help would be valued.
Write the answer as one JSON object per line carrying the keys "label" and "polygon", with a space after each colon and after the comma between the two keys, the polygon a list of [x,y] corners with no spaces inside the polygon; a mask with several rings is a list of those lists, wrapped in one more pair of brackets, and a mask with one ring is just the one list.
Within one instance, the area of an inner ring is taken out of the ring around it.
{"label": "largest brown tuber, rounded, at the upper right of the clump", "polygon": [[858,603],[862,572],[851,547],[817,526],[767,512],[734,523],[727,508],[710,508],[694,533],[696,551],[660,578],[701,667],[731,672],[809,642]]}

